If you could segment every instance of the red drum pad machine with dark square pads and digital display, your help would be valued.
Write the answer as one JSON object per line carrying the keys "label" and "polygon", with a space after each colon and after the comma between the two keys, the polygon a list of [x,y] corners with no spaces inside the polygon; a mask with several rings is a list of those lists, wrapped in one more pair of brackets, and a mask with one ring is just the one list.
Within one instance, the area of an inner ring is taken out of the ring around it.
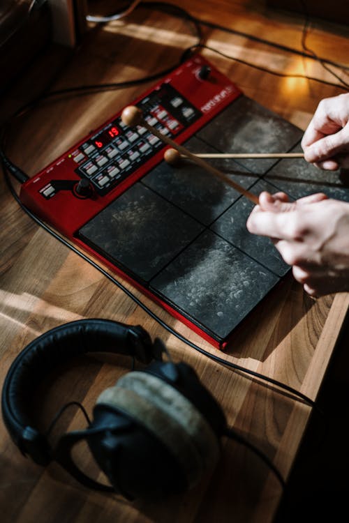
{"label": "red drum pad machine with dark square pads and digital display", "polygon": [[[301,151],[302,130],[244,94],[200,55],[133,102],[149,125],[193,153]],[[268,238],[249,234],[251,203],[121,112],[24,183],[25,206],[160,303],[215,347],[289,271]],[[349,201],[339,173],[302,158],[215,159],[258,195],[313,192]]]}

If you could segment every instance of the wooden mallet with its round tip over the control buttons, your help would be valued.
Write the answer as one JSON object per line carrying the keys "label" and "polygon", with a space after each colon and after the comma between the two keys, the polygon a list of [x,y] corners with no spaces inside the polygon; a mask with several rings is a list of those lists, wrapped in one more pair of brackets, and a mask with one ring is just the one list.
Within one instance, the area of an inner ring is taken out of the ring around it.
{"label": "wooden mallet with its round tip over the control buttons", "polygon": [[258,204],[258,196],[253,195],[253,192],[250,192],[249,190],[246,190],[242,187],[242,185],[239,185],[239,183],[236,183],[235,181],[230,180],[228,176],[225,176],[223,172],[218,171],[218,169],[215,169],[209,163],[205,162],[205,160],[202,160],[202,158],[198,158],[195,156],[191,151],[188,151],[185,147],[177,144],[174,142],[171,138],[168,136],[162,135],[160,131],[158,131],[153,126],[150,126],[149,123],[144,120],[142,111],[135,107],[134,105],[129,105],[128,107],[125,107],[124,111],[121,114],[121,120],[126,124],[126,126],[134,127],[134,126],[142,126],[149,130],[152,135],[155,135],[158,137],[158,139],[161,139],[162,142],[165,142],[165,144],[170,145],[178,151],[179,155],[187,156],[188,158],[191,158],[193,162],[195,162],[197,165],[200,165],[202,169],[205,169],[211,174],[214,174],[214,176],[217,176],[219,179],[224,181],[225,183],[228,183],[228,185],[231,185],[232,188],[237,190],[241,195],[246,196],[253,204]]}

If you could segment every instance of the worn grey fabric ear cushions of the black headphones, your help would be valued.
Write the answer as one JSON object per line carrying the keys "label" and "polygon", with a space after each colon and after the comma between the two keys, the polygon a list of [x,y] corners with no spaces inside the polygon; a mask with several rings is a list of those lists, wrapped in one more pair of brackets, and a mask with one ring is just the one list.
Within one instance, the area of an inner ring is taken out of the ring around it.
{"label": "worn grey fabric ear cushions of the black headphones", "polygon": [[[188,398],[158,376],[147,372],[125,374],[98,397],[96,412],[103,408],[123,414],[149,434],[155,448],[165,449],[184,478],[184,490],[196,485],[218,461],[218,438],[207,420]],[[156,455],[149,458],[151,473],[151,461],[156,460]],[[110,472],[105,471],[107,476]],[[166,471],[167,476],[171,473]],[[157,481],[154,492],[162,490],[165,478],[158,477]]]}

